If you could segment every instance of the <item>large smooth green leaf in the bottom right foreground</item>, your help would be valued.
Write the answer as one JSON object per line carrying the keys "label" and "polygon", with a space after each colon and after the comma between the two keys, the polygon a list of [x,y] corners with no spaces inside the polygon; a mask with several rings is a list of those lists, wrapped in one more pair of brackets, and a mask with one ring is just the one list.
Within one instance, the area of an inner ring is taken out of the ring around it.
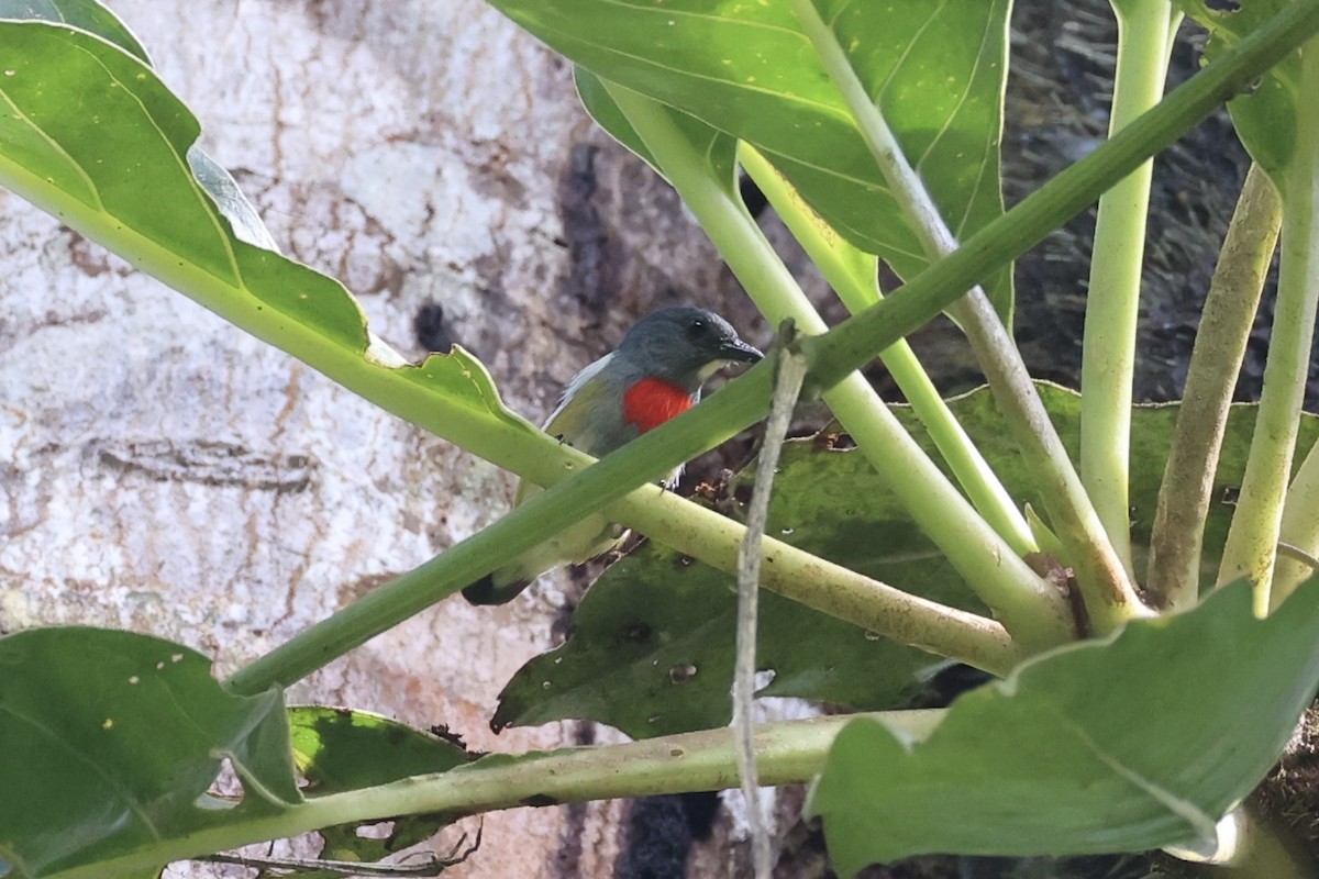
{"label": "large smooth green leaf in the bottom right foreground", "polygon": [[1064,647],[954,702],[925,742],[872,720],[811,795],[830,855],[872,862],[1140,851],[1212,838],[1319,684],[1319,585],[1266,621],[1250,593]]}

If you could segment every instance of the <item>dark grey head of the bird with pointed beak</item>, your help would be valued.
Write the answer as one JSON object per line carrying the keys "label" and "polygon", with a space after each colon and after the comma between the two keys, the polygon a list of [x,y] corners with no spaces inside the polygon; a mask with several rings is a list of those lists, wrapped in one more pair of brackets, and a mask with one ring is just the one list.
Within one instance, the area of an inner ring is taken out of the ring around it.
{"label": "dark grey head of the bird with pointed beak", "polygon": [[638,320],[624,336],[617,354],[638,372],[690,391],[724,364],[754,364],[762,357],[727,320],[690,306],[663,308]]}

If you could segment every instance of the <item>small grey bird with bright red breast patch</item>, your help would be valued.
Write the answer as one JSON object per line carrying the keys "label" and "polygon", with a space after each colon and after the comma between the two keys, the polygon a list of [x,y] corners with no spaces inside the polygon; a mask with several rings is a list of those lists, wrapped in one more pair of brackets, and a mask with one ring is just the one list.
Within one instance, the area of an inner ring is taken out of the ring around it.
{"label": "small grey bird with bright red breast patch", "polygon": [[[624,443],[681,415],[700,401],[700,386],[721,366],[754,364],[764,354],[712,311],[679,306],[642,318],[623,343],[568,382],[545,432],[604,457]],[[674,480],[679,470],[674,473]],[[514,506],[541,489],[525,480]],[[621,540],[603,514],[590,515],[463,589],[474,605],[501,605],[536,577],[580,564]]]}

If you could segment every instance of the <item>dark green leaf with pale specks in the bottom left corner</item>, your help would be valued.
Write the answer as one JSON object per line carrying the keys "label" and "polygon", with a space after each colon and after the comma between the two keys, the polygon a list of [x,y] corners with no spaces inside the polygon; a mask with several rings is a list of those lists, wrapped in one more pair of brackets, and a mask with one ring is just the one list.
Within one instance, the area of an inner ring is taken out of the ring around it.
{"label": "dark green leaf with pale specks in the bottom left corner", "polygon": [[[20,876],[186,833],[227,758],[248,813],[302,797],[278,691],[239,697],[210,660],[84,627],[0,639],[0,859]],[[21,796],[17,792],[22,792]]]}

